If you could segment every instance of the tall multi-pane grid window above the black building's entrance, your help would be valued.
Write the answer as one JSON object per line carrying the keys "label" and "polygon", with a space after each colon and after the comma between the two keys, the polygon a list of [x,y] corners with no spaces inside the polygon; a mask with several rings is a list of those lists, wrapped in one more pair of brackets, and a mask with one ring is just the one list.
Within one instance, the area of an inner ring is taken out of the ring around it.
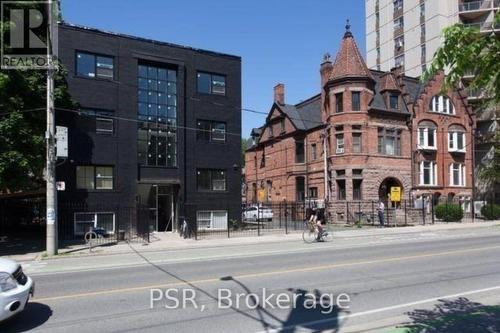
{"label": "tall multi-pane grid window above the black building's entrance", "polygon": [[177,71],[138,67],[138,160],[142,165],[177,166]]}

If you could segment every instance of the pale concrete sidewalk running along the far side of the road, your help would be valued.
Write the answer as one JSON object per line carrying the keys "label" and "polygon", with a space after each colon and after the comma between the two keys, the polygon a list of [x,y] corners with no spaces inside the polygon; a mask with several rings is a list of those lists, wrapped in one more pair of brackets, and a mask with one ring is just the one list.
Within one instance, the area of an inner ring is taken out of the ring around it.
{"label": "pale concrete sidewalk running along the far side of the road", "polygon": [[[493,222],[474,222],[474,223],[437,223],[434,225],[397,227],[397,228],[352,228],[349,230],[334,231],[335,239],[346,240],[363,237],[377,236],[395,236],[404,234],[419,234],[423,232],[444,231],[444,230],[467,230],[488,227],[500,227],[500,221]],[[118,243],[107,246],[98,246],[89,251],[88,247],[78,245],[65,247],[59,250],[59,255],[54,258],[45,258],[43,252],[33,252],[12,256],[4,256],[5,258],[14,259],[17,261],[33,261],[33,260],[57,260],[59,258],[68,257],[87,257],[100,255],[115,255],[125,253],[147,253],[159,251],[173,250],[189,250],[202,248],[221,248],[237,245],[258,245],[268,243],[283,243],[290,241],[302,240],[302,233],[294,232],[289,234],[270,233],[260,237],[234,237],[234,238],[212,238],[203,240],[182,239],[176,233],[155,233],[151,237],[151,243]]]}

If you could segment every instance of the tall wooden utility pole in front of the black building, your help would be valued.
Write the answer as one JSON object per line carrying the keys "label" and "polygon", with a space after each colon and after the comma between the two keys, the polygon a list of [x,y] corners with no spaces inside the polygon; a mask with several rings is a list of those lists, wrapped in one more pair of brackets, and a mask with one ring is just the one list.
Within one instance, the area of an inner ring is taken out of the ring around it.
{"label": "tall wooden utility pole in front of the black building", "polygon": [[[47,40],[47,131],[45,139],[47,140],[47,165],[46,165],[46,180],[47,180],[47,255],[54,256],[57,254],[57,189],[56,189],[56,123],[54,110],[54,74],[55,64],[53,59],[53,30],[57,27],[53,26],[52,2],[47,4],[48,8],[48,40]],[[57,23],[56,23],[57,24]]]}

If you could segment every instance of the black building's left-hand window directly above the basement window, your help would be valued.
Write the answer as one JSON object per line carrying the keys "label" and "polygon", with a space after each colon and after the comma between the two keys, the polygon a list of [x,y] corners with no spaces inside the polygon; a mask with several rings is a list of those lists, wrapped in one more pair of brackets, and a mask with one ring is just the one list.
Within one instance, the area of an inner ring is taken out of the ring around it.
{"label": "black building's left-hand window directly above the basement window", "polygon": [[83,190],[112,190],[114,183],[113,167],[77,166],[76,188]]}

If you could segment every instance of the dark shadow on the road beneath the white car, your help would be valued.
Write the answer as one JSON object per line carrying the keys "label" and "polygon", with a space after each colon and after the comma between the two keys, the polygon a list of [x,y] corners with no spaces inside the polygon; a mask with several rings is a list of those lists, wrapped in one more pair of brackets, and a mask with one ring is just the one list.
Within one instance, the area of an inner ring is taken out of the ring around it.
{"label": "dark shadow on the road beneath the white car", "polygon": [[0,323],[0,332],[27,332],[44,324],[51,316],[49,306],[29,302],[23,312]]}

